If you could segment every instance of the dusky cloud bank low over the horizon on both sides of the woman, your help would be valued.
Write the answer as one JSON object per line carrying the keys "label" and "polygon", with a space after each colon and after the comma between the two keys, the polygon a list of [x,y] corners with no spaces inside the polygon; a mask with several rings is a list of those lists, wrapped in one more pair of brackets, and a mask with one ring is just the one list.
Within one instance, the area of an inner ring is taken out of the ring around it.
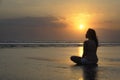
{"label": "dusky cloud bank low over the horizon on both sides of the woman", "polygon": [[[106,21],[105,23],[111,23]],[[118,22],[117,22],[118,23]],[[0,41],[80,40],[80,34],[68,30],[61,17],[24,17],[0,20]],[[97,28],[99,41],[119,42],[120,30]]]}

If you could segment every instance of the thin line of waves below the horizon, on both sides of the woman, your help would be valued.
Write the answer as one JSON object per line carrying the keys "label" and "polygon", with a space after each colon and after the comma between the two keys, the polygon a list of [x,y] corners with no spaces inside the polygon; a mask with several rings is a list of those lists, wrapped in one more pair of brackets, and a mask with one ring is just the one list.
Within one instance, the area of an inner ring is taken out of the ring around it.
{"label": "thin line of waves below the horizon, on both sides of the woman", "polygon": [[[80,42],[35,42],[35,43],[0,43],[4,47],[80,47]],[[99,46],[120,46],[120,43],[100,43]]]}

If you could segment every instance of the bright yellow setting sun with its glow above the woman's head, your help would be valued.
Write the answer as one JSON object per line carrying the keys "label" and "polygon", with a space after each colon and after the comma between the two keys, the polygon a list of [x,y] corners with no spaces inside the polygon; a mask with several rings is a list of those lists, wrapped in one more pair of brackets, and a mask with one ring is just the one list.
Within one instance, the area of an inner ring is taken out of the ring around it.
{"label": "bright yellow setting sun with its glow above the woman's head", "polygon": [[84,33],[89,27],[90,21],[92,21],[92,15],[86,13],[79,13],[66,16],[63,22],[69,24],[69,29],[74,30],[74,32]]}

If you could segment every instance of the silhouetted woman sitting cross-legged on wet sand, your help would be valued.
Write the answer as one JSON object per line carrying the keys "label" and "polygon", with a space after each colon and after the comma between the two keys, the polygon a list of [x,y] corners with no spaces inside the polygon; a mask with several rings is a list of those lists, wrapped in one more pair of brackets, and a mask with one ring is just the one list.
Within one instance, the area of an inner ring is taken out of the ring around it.
{"label": "silhouetted woman sitting cross-legged on wet sand", "polygon": [[83,56],[71,56],[71,60],[75,63],[79,64],[97,64],[97,47],[98,47],[98,39],[96,36],[96,32],[93,29],[88,29],[86,33],[86,40],[83,46]]}

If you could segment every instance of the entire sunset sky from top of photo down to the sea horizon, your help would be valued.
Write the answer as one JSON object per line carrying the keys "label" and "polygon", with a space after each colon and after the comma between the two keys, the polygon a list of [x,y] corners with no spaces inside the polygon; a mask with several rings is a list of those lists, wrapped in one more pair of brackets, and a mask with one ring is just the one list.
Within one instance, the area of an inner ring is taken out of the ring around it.
{"label": "entire sunset sky from top of photo down to the sea horizon", "polygon": [[0,41],[83,42],[88,28],[120,42],[120,0],[0,0]]}

